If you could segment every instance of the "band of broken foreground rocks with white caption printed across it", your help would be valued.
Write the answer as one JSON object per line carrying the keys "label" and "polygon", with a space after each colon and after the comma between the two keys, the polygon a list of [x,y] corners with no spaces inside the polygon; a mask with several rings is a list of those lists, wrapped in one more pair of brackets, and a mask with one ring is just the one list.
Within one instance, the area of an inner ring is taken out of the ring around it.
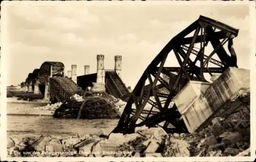
{"label": "band of broken foreground rocks with white caption printed across it", "polygon": [[[84,156],[84,157],[185,157],[249,156],[249,141],[239,132],[219,135],[204,131],[192,134],[167,134],[162,128],[137,128],[135,133],[69,136],[10,137],[9,156]],[[216,132],[215,132],[216,133]]]}

